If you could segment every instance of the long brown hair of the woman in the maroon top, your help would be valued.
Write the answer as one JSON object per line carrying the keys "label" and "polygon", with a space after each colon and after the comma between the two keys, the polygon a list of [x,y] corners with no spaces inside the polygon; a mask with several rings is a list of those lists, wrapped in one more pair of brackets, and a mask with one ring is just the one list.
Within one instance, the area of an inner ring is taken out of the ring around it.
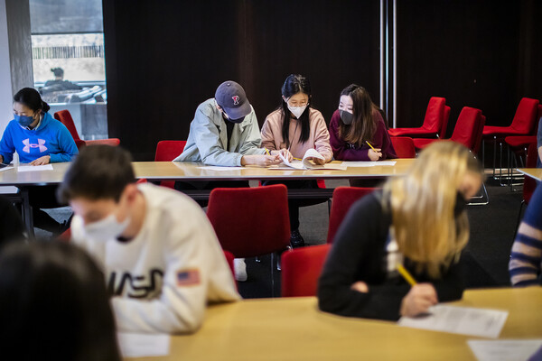
{"label": "long brown hair of the woman in the maroon top", "polygon": [[339,136],[345,142],[362,146],[365,141],[372,141],[377,131],[378,106],[370,99],[369,92],[359,85],[350,84],[342,89],[341,96],[352,98],[354,119],[351,125],[339,122]]}

